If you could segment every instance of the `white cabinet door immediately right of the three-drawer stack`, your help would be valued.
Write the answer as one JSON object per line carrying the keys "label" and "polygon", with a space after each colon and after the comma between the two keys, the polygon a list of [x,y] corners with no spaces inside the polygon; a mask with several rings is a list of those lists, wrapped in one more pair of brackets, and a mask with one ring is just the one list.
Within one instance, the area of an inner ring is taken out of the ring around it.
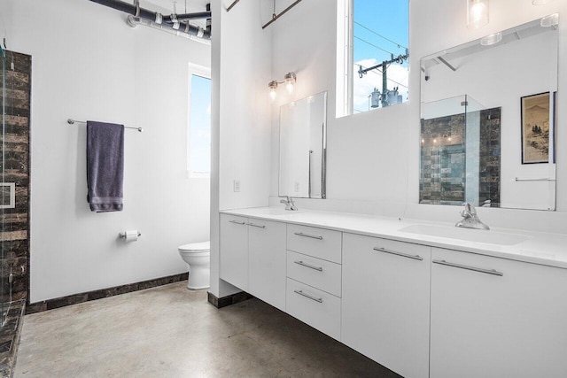
{"label": "white cabinet door immediately right of the three-drawer stack", "polygon": [[430,269],[430,247],[344,234],[342,342],[406,378],[427,377]]}

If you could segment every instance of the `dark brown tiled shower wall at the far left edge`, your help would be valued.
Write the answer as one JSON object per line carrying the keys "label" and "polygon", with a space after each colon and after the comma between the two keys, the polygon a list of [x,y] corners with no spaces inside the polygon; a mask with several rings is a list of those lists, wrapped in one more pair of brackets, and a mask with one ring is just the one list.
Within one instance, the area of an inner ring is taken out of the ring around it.
{"label": "dark brown tiled shower wall at the far left edge", "polygon": [[2,44],[0,59],[0,325],[4,326],[14,322],[16,308],[24,308],[29,288],[31,57],[6,50]]}

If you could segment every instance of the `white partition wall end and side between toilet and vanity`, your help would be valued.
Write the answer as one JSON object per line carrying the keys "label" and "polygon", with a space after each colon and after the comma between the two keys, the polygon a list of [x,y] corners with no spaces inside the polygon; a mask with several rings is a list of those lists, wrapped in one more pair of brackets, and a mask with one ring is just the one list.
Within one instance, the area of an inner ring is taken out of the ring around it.
{"label": "white partition wall end and side between toilet and vanity", "polygon": [[[216,297],[240,291],[219,278],[219,210],[268,205],[270,177],[270,30],[262,30],[262,0],[212,3],[213,170],[211,289]],[[234,181],[240,191],[234,191]]]}

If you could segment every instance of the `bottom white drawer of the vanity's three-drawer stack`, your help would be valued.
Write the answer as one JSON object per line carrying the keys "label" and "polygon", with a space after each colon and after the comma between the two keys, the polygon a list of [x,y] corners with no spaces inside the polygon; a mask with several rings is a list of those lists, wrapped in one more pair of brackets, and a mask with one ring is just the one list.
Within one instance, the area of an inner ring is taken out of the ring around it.
{"label": "bottom white drawer of the vanity's three-drawer stack", "polygon": [[340,298],[287,279],[286,312],[334,339],[340,340]]}

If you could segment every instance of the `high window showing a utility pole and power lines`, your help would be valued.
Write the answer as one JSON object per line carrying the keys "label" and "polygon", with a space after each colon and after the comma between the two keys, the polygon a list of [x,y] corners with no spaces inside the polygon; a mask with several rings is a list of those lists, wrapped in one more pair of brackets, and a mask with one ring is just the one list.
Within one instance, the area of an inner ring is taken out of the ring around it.
{"label": "high window showing a utility pole and power lines", "polygon": [[338,116],[408,101],[408,0],[338,0]]}

